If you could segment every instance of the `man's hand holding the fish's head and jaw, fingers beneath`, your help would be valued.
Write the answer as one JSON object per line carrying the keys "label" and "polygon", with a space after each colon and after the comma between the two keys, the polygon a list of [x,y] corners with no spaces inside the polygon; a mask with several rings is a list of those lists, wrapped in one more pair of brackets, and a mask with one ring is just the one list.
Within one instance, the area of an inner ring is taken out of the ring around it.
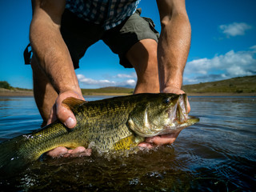
{"label": "man's hand holding the fish's head and jaw, fingers beneath", "polygon": [[[174,86],[166,87],[162,91],[162,93],[185,94],[183,90],[180,90]],[[186,103],[187,103],[187,113],[190,113],[190,103],[188,100],[186,101]],[[178,134],[180,132],[181,131],[178,131],[177,133],[174,133],[174,134],[164,134],[164,135],[154,136],[152,138],[146,138],[145,142],[141,142],[140,144],[138,144],[138,146],[152,148],[154,145],[162,146],[162,145],[172,144],[175,141],[175,139],[178,137]]]}

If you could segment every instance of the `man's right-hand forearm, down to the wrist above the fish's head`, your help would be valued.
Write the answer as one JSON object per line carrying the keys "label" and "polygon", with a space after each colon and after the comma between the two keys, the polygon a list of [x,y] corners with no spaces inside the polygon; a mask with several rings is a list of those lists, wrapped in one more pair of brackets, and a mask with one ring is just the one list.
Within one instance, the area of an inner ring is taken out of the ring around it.
{"label": "man's right-hand forearm, down to the wrist above the fish's head", "polygon": [[160,91],[180,94],[191,37],[185,0],[157,2],[162,26],[158,42]]}

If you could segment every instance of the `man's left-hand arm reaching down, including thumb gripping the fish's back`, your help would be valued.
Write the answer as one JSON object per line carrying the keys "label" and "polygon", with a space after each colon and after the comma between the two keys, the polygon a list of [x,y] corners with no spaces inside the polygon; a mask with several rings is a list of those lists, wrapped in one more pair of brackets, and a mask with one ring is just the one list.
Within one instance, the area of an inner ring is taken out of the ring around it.
{"label": "man's left-hand arm reaching down, including thumb gripping the fish's back", "polygon": [[65,0],[32,0],[30,42],[37,63],[58,93],[56,111],[52,110],[48,122],[53,121],[56,113],[66,126],[72,128],[76,124],[76,119],[70,110],[62,106],[62,100],[71,96],[83,98],[69,50],[60,32],[65,5]]}

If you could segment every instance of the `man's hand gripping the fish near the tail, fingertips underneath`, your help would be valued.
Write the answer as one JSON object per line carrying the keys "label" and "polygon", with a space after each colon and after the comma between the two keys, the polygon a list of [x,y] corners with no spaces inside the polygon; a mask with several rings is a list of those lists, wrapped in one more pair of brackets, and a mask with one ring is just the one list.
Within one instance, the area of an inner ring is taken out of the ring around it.
{"label": "man's hand gripping the fish near the tail, fingertips underneath", "polygon": [[[66,91],[58,95],[54,106],[50,110],[50,117],[48,119],[47,125],[51,122],[54,122],[57,118],[68,128],[72,129],[77,124],[77,120],[74,117],[74,114],[71,110],[67,109],[62,105],[62,101],[66,98],[78,98],[85,100],[81,94],[78,94],[75,91]],[[78,146],[74,150],[68,150],[64,146],[59,146],[54,150],[50,150],[48,153],[53,158],[63,156],[63,157],[78,157],[78,156],[90,156],[91,150],[86,149],[83,146]]]}

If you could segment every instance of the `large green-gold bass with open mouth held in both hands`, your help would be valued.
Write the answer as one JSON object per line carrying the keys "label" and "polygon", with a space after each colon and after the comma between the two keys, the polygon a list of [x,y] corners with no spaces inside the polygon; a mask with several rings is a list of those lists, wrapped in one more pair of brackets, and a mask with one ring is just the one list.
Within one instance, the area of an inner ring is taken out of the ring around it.
{"label": "large green-gold bass with open mouth held in both hands", "polygon": [[0,170],[36,161],[58,146],[109,152],[130,150],[145,138],[177,133],[199,119],[187,113],[186,94],[133,94],[85,102],[66,98],[77,125],[57,120],[29,134],[0,143]]}

